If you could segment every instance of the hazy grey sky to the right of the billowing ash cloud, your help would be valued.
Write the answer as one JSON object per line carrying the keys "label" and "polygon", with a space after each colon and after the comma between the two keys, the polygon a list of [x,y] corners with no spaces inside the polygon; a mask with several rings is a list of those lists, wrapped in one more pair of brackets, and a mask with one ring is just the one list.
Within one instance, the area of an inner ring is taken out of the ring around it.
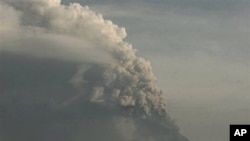
{"label": "hazy grey sky to the right of the billowing ash cloud", "polygon": [[190,140],[228,141],[229,124],[250,123],[249,0],[78,2],[126,28]]}

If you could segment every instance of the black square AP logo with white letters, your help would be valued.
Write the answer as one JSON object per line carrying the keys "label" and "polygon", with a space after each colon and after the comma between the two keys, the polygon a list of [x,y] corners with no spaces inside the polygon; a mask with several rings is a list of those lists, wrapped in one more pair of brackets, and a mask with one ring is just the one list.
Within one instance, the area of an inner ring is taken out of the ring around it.
{"label": "black square AP logo with white letters", "polygon": [[250,141],[250,125],[230,125],[230,141]]}

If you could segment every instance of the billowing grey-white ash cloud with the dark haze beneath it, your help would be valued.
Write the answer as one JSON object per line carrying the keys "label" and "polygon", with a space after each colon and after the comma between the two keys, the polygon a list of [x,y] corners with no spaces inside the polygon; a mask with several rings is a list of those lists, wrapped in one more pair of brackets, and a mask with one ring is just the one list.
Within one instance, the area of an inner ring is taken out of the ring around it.
{"label": "billowing grey-white ash cloud with the dark haze beneath it", "polygon": [[78,3],[0,1],[3,141],[188,141],[124,28]]}

